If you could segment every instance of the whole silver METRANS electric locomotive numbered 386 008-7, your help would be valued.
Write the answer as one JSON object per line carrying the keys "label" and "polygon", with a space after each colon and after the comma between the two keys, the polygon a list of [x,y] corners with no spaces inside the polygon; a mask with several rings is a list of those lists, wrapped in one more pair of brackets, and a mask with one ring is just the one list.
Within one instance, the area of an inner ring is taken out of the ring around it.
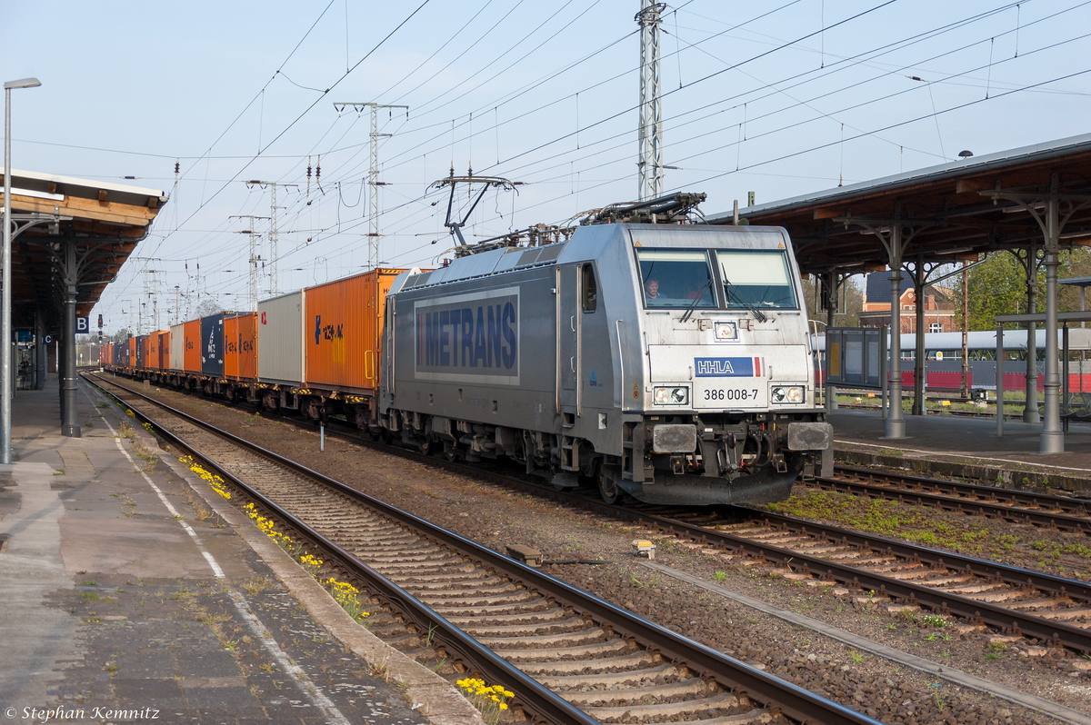
{"label": "whole silver METRANS electric locomotive numbered 386 008-7", "polygon": [[421,449],[610,503],[776,502],[831,466],[783,229],[583,226],[405,273],[385,314],[379,424]]}

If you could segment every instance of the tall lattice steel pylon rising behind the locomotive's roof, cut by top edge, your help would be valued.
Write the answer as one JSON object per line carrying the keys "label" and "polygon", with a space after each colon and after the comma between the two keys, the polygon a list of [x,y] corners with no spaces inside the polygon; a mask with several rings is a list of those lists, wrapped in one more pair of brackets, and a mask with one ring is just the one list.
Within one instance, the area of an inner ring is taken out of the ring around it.
{"label": "tall lattice steel pylon rising behind the locomotive's roof, cut by top edge", "polygon": [[633,19],[640,25],[640,156],[637,160],[640,201],[663,193],[663,116],[659,92],[659,26],[666,2],[640,0]]}

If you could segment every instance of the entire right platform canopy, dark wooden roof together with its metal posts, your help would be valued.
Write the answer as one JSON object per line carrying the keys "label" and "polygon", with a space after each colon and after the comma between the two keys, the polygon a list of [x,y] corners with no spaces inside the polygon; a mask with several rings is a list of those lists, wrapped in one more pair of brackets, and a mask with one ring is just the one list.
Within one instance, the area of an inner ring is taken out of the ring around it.
{"label": "entire right platform canopy, dark wooden roof together with its metal posts", "polygon": [[[970,152],[959,156],[962,160],[952,164],[750,206],[708,221],[786,228],[800,268],[819,277],[828,326],[834,325],[837,289],[850,275],[889,267],[890,300],[900,300],[904,273],[923,289],[930,265],[1008,250],[1027,271],[1031,299],[1036,299],[1036,270],[1045,269],[1045,328],[1056,329],[1059,253],[1091,244],[1091,134],[988,156],[974,157]],[[899,304],[890,305],[890,326],[901,329]],[[918,325],[919,347],[922,327]],[[900,340],[900,335],[891,336],[894,400],[901,400]],[[918,355],[913,410],[921,413],[922,364]],[[1028,399],[1038,395],[1036,376],[1034,360],[1028,357]],[[1041,452],[1062,452],[1055,335],[1046,335],[1043,387]],[[1035,406],[1026,407],[1023,421],[1038,421]],[[904,437],[901,406],[891,407],[886,430],[888,438]]]}

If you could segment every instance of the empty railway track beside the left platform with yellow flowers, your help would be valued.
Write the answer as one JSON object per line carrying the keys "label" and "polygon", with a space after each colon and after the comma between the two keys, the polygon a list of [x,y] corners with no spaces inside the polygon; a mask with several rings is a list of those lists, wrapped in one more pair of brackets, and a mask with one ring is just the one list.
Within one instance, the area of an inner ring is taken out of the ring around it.
{"label": "empty railway track beside the left platform with yellow flowers", "polygon": [[[536,721],[876,723],[108,379],[137,415],[317,544]],[[382,635],[382,630],[376,631]],[[425,636],[427,633],[427,636]]]}

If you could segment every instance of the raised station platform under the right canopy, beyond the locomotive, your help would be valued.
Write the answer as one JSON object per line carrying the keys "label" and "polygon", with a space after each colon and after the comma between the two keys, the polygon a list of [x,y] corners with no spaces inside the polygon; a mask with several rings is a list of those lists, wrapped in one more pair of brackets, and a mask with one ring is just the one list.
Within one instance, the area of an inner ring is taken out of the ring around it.
{"label": "raised station platform under the right canopy, beyond the locomotive", "polygon": [[1042,425],[950,414],[904,416],[906,437],[886,438],[878,411],[827,413],[840,463],[904,468],[920,475],[966,476],[1006,488],[1056,488],[1091,496],[1091,424],[1072,423],[1065,450],[1040,454]]}

